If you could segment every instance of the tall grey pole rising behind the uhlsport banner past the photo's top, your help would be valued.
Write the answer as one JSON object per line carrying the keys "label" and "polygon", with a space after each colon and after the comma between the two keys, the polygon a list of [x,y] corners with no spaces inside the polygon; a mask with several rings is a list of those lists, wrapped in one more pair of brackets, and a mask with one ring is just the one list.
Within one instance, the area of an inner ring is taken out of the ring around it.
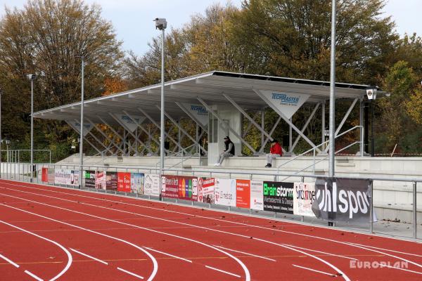
{"label": "tall grey pole rising behind the uhlsport banner past the photo's top", "polygon": [[328,176],[335,174],[335,0],[331,1],[331,67],[330,67],[330,150],[328,162]]}

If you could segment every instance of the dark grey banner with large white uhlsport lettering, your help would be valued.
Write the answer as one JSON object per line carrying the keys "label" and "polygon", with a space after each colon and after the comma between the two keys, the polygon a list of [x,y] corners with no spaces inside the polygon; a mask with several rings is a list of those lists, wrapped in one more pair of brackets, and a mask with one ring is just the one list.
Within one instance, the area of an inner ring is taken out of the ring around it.
{"label": "dark grey banner with large white uhlsport lettering", "polygon": [[317,178],[312,211],[328,221],[369,223],[371,180]]}

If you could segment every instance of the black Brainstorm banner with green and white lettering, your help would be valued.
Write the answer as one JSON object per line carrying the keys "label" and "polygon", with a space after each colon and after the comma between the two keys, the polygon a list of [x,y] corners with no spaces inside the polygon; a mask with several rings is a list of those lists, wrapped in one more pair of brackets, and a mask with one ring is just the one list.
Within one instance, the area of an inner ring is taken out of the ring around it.
{"label": "black Brainstorm banner with green and white lettering", "polygon": [[264,211],[293,214],[293,185],[264,181]]}

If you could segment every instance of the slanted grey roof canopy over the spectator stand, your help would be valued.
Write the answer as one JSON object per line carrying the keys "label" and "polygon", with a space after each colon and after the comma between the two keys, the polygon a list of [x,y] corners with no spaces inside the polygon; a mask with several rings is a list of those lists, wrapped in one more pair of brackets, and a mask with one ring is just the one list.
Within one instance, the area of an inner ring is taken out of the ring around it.
{"label": "slanted grey roof canopy over the spectator stand", "polygon": [[[336,83],[335,97],[361,98],[366,94],[367,87],[367,85]],[[156,122],[160,122],[160,89],[160,84],[156,84],[85,100],[84,116],[99,124],[103,123],[101,119],[108,124],[117,124],[110,113],[122,114],[124,110],[131,115],[142,115],[141,110],[143,110]],[[310,95],[307,103],[320,103],[329,98],[330,83],[233,72],[206,72],[165,83],[165,112],[174,118],[188,117],[177,102],[199,104],[198,98],[200,98],[207,105],[230,105],[227,97],[245,110],[262,110],[269,105],[257,95],[258,89],[305,93]],[[79,102],[54,107],[35,112],[34,117],[65,121],[79,119],[80,106]]]}

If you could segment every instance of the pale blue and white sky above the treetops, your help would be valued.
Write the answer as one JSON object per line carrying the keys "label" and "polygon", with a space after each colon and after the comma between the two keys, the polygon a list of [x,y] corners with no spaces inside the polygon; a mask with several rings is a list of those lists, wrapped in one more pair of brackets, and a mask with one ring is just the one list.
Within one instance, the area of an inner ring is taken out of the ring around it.
{"label": "pale blue and white sky above the treetops", "polygon": [[[327,0],[328,1],[328,0]],[[0,15],[4,7],[22,8],[26,0],[0,0]],[[117,38],[123,41],[125,51],[142,55],[148,50],[148,41],[158,35],[153,19],[167,18],[170,27],[181,27],[191,15],[203,13],[213,3],[226,4],[226,0],[85,0],[103,8],[103,18],[113,22]],[[241,6],[242,0],[231,0]],[[388,0],[385,15],[392,15],[399,34],[422,35],[422,0]]]}

